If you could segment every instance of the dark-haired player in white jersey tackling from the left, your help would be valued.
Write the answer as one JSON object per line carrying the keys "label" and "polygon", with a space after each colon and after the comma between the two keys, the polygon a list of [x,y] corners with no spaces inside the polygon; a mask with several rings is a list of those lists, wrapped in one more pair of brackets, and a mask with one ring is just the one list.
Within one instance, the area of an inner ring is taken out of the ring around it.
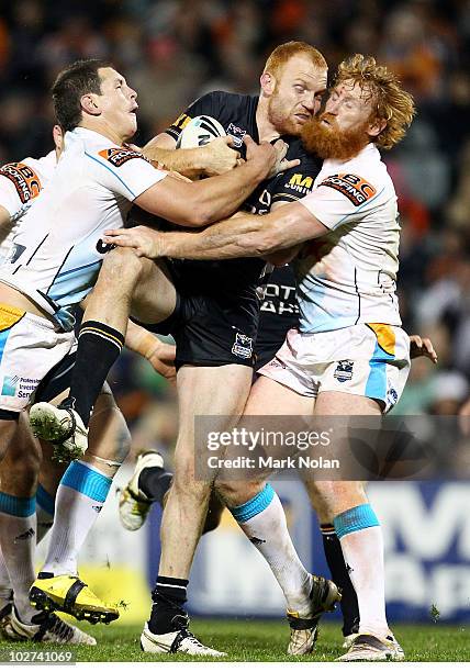
{"label": "dark-haired player in white jersey tackling from the left", "polygon": [[[22,220],[9,264],[0,270],[1,457],[14,441],[20,413],[40,382],[70,354],[75,337],[68,306],[93,287],[109,249],[100,240],[107,224],[124,224],[135,203],[178,224],[201,226],[228,215],[271,171],[290,165],[282,164],[282,143],[258,146],[247,138],[243,166],[208,179],[203,187],[188,183],[123,146],[136,131],[136,93],[112,67],[97,60],[74,64],[58,76],[53,92],[57,117],[67,131],[65,150],[47,190]],[[165,316],[174,310],[165,275],[153,262],[147,270],[158,285],[157,310]],[[145,316],[145,298],[142,311]],[[112,331],[104,336],[122,345]],[[99,507],[110,485],[105,469],[83,469],[75,462],[70,470],[69,490],[94,499]],[[0,545],[8,546],[8,539],[2,525]],[[5,560],[11,574],[11,558]],[[76,576],[68,579],[72,590],[64,591],[66,602],[83,590]]]}

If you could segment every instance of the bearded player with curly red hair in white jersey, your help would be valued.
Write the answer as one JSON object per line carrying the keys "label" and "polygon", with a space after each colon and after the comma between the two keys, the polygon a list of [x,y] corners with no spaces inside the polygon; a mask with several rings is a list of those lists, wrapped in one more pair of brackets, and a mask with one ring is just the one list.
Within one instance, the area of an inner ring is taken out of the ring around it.
{"label": "bearded player with curly red hair in white jersey", "polygon": [[[380,416],[400,397],[410,340],[395,296],[396,195],[379,148],[400,142],[413,115],[413,99],[395,77],[372,57],[356,55],[340,64],[325,112],[304,128],[307,148],[325,159],[311,194],[264,217],[242,215],[193,235],[146,227],[108,233],[108,243],[148,258],[286,260],[312,240],[295,261],[299,329],[261,369],[246,415],[265,415],[269,400],[270,414],[344,415],[347,408],[349,416]],[[345,363],[348,376],[338,376]],[[314,486],[359,603],[359,636],[340,660],[403,659],[385,618],[382,536],[362,484]],[[219,483],[219,491],[236,515],[246,513],[245,531],[266,540],[260,552],[281,564],[288,533],[276,527],[273,538],[270,531],[279,506],[272,489],[238,482]],[[289,560],[292,573],[299,571]]]}

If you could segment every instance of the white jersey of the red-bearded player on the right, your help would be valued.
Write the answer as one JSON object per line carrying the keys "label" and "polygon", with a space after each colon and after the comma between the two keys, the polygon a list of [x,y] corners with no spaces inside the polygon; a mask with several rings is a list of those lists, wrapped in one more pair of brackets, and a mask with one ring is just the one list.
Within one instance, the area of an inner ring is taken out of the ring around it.
{"label": "white jersey of the red-bearded player on the right", "polygon": [[329,232],[295,261],[300,331],[401,325],[396,194],[370,143],[347,161],[327,159],[302,203]]}

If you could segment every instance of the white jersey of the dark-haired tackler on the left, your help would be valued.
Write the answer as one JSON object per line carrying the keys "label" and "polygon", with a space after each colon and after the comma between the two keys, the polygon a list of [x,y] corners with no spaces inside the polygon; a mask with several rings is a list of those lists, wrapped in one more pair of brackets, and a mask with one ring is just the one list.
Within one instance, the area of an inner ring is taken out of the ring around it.
{"label": "white jersey of the dark-haired tackler on the left", "polygon": [[79,303],[104,254],[101,236],[124,225],[132,202],[168,175],[137,152],[88,128],[65,135],[47,189],[21,219],[0,280],[51,315]]}

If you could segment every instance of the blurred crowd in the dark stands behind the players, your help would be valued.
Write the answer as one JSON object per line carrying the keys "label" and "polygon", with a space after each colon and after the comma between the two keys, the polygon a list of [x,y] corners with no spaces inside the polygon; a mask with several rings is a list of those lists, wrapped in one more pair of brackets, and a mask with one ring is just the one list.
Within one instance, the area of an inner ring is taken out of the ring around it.
{"label": "blurred crowd in the dark stands behind the players", "polygon": [[[412,367],[402,413],[454,414],[470,382],[470,0],[14,0],[0,12],[0,161],[51,149],[49,87],[82,57],[110,59],[138,92],[139,136],[201,93],[257,92],[267,54],[304,40],[331,71],[376,55],[413,92],[418,116],[385,160],[402,215],[402,315],[430,336],[438,367]],[[175,436],[174,391],[126,355],[113,371],[136,448]],[[157,437],[157,438],[156,438]]]}

